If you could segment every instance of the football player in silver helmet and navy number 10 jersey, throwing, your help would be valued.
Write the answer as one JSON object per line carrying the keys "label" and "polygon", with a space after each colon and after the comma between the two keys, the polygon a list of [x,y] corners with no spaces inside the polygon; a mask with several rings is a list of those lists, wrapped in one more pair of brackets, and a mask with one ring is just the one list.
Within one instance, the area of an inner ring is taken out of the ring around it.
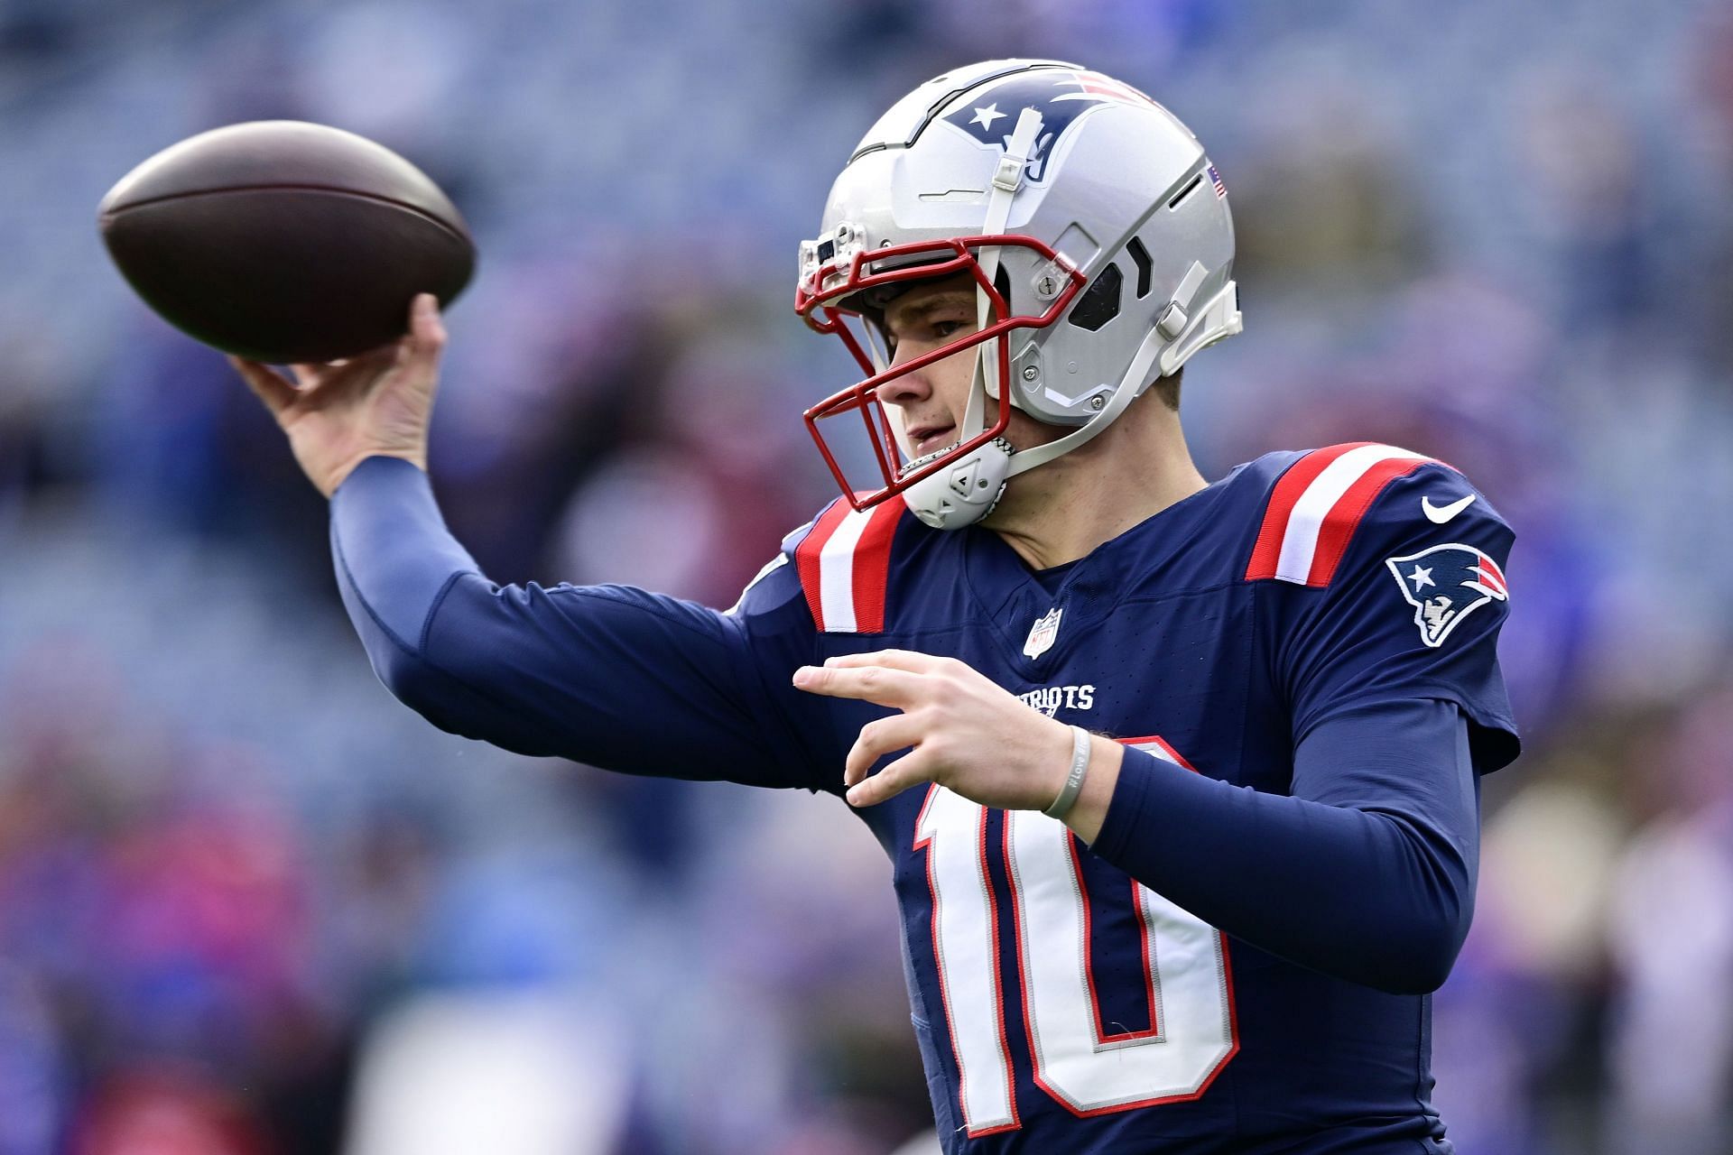
{"label": "football player in silver helmet and navy number 10 jersey, throwing", "polygon": [[846,797],[894,862],[946,1152],[1449,1152],[1428,992],[1466,933],[1511,532],[1425,454],[1206,481],[1180,371],[1239,332],[1227,189],[1102,74],[995,61],[872,126],[795,305],[873,483],[714,611],[501,587],[423,473],[444,329],[241,364],[333,499],[374,668],[437,726]]}

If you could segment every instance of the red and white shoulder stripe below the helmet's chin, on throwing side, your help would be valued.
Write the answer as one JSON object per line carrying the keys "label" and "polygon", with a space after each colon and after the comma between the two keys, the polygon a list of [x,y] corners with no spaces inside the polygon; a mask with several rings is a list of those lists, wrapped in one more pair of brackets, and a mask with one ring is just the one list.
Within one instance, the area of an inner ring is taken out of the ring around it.
{"label": "red and white shoulder stripe below the helmet's chin, on throwing side", "polygon": [[884,632],[884,590],[891,582],[891,540],[908,511],[899,499],[872,509],[835,500],[794,547],[801,589],[825,634]]}

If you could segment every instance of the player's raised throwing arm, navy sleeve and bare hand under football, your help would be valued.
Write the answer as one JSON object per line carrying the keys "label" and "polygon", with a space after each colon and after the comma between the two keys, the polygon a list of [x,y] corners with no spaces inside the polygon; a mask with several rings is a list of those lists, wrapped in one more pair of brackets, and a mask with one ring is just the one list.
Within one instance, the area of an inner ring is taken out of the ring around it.
{"label": "player's raised throwing arm, navy sleeve and bare hand under football", "polygon": [[[724,616],[626,587],[499,587],[440,518],[426,428],[445,329],[416,298],[400,341],[343,364],[234,365],[331,497],[338,584],[373,668],[442,729],[669,778],[806,784],[815,765],[757,660],[792,668],[797,615]],[[764,599],[761,599],[764,601]],[[789,648],[789,653],[783,653]]]}

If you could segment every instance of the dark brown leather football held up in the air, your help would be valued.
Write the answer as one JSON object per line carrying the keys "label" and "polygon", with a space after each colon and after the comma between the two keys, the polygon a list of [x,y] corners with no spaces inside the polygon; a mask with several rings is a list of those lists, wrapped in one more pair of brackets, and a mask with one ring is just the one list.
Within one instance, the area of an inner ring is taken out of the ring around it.
{"label": "dark brown leather football held up in the air", "polygon": [[170,145],[109,189],[97,225],[165,320],[272,364],[354,357],[451,303],[475,242],[451,199],[390,149],[326,125],[253,121]]}

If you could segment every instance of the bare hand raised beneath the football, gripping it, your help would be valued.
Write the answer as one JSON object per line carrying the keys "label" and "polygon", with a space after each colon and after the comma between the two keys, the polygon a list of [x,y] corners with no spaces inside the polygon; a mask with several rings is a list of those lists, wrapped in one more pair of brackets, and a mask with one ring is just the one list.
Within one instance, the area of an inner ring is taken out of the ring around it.
{"label": "bare hand raised beneath the football, gripping it", "polygon": [[428,421],[445,326],[432,293],[409,306],[409,334],[329,365],[293,365],[295,381],[230,357],[248,388],[289,435],[295,461],[326,497],[367,457],[428,464]]}

